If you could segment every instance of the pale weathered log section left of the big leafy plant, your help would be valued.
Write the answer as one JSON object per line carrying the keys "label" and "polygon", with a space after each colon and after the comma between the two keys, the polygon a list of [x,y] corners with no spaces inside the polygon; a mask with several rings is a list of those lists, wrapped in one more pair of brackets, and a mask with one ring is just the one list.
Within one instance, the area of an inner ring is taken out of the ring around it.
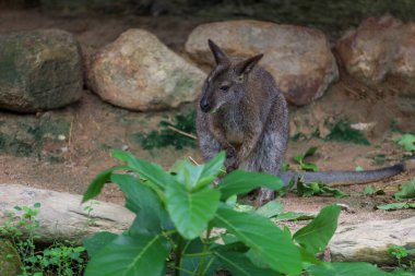
{"label": "pale weathered log section left of the big leafy plant", "polygon": [[[117,204],[98,201],[81,204],[81,195],[19,184],[1,184],[0,199],[0,225],[8,220],[8,214],[15,205],[33,206],[40,203],[36,235],[46,243],[56,240],[80,243],[83,238],[97,231],[120,233],[134,219],[134,214]],[[16,215],[22,216],[21,213]]]}

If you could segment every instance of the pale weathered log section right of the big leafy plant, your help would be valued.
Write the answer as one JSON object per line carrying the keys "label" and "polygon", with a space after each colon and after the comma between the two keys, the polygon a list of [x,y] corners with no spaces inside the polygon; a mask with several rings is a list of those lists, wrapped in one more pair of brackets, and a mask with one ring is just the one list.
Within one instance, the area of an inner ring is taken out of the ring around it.
{"label": "pale weathered log section right of the big leafy plant", "polygon": [[[415,247],[415,216],[406,219],[370,220],[337,228],[329,243],[332,261],[394,264],[390,245]],[[413,256],[412,256],[413,257]]]}

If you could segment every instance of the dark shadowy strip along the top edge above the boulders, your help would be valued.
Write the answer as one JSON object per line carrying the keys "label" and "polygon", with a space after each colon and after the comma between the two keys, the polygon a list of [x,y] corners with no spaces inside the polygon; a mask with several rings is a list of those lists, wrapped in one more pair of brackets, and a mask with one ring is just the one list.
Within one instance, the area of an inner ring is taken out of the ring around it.
{"label": "dark shadowy strip along the top edge above the boulders", "polygon": [[404,22],[415,19],[415,0],[0,0],[1,8],[39,9],[57,16],[250,17],[315,26],[331,35],[357,26],[367,16],[391,14]]}

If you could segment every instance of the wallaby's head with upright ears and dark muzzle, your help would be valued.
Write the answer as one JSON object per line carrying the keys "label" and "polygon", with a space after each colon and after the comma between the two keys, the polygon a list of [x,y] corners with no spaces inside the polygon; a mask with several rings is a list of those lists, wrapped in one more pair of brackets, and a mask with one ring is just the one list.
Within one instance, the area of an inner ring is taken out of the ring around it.
{"label": "wallaby's head with upright ears and dark muzzle", "polygon": [[211,39],[208,40],[216,67],[203,85],[200,108],[203,112],[216,111],[227,104],[237,104],[246,93],[246,81],[262,53],[245,60],[228,58]]}

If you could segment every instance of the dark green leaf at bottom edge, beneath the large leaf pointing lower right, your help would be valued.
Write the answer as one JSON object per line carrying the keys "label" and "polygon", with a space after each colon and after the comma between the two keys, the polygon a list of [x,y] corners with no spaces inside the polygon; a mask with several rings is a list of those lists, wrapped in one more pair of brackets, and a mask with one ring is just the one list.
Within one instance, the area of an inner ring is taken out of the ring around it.
{"label": "dark green leaf at bottom edge, beneath the large leaf pointing lower right", "polygon": [[261,268],[252,264],[249,259],[239,252],[216,251],[215,256],[221,267],[229,271],[233,276],[276,276],[270,268]]}

